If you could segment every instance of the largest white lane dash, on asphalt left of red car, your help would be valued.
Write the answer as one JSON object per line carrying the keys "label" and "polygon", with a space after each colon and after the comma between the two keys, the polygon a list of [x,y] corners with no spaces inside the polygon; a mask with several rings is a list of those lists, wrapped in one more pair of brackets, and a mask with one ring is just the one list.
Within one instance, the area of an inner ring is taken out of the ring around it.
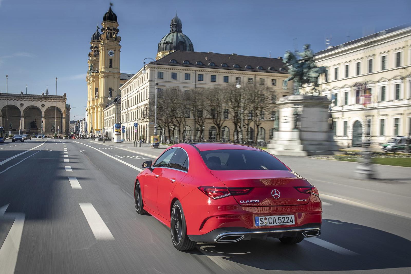
{"label": "largest white lane dash, on asphalt left of red car", "polygon": [[91,203],[79,203],[79,205],[96,240],[113,240],[113,235],[93,205]]}

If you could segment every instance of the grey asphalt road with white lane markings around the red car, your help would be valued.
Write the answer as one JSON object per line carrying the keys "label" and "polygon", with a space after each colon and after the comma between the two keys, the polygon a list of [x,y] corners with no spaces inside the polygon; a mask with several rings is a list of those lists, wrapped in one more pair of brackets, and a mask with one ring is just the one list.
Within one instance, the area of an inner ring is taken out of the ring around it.
{"label": "grey asphalt road with white lane markings around the red car", "polygon": [[180,252],[168,228],[135,212],[134,180],[148,159],[88,140],[0,144],[0,274],[411,272],[411,218],[402,216],[411,176],[396,175],[407,170],[370,184],[344,173],[346,163],[323,170],[324,161],[284,157],[327,193],[320,237]]}

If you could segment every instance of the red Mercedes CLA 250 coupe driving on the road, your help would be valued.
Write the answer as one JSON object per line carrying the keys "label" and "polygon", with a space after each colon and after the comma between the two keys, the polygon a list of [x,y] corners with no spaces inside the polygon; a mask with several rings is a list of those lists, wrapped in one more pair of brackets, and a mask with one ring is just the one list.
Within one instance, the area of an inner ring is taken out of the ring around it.
{"label": "red Mercedes CLA 250 coupe driving on the road", "polygon": [[266,237],[297,244],[320,235],[318,190],[258,148],[182,143],[142,167],[136,211],[168,226],[178,250]]}

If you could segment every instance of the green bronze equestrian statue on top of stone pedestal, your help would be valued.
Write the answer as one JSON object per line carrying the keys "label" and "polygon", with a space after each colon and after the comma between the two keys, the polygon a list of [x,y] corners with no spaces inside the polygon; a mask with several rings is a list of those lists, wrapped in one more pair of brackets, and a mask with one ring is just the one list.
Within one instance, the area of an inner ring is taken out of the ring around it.
{"label": "green bronze equestrian statue on top of stone pedestal", "polygon": [[300,94],[298,91],[302,84],[314,84],[312,90],[316,91],[318,87],[318,78],[321,74],[326,76],[326,82],[328,82],[328,77],[326,74],[325,67],[317,67],[314,63],[314,53],[309,48],[309,44],[304,45],[304,51],[298,53],[298,59],[291,51],[286,51],[283,58],[284,66],[287,66],[288,73],[291,75],[289,78],[284,80],[283,89],[287,89],[287,83],[290,80],[294,80],[297,85],[297,89],[294,91],[295,94]]}

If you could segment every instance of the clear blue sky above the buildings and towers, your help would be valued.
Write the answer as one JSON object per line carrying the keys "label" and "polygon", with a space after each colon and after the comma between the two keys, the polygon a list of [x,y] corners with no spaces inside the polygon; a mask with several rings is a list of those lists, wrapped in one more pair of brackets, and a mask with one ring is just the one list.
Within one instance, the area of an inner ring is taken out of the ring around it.
{"label": "clear blue sky above the buildings and towers", "polygon": [[[0,0],[0,91],[67,93],[71,119],[84,117],[91,35],[110,1]],[[120,68],[135,73],[155,58],[157,44],[177,11],[195,51],[276,58],[294,42],[314,51],[407,23],[409,0],[112,0],[120,24]],[[295,39],[296,38],[296,39]],[[295,39],[295,40],[293,40]],[[75,115],[75,117],[74,117]]]}

